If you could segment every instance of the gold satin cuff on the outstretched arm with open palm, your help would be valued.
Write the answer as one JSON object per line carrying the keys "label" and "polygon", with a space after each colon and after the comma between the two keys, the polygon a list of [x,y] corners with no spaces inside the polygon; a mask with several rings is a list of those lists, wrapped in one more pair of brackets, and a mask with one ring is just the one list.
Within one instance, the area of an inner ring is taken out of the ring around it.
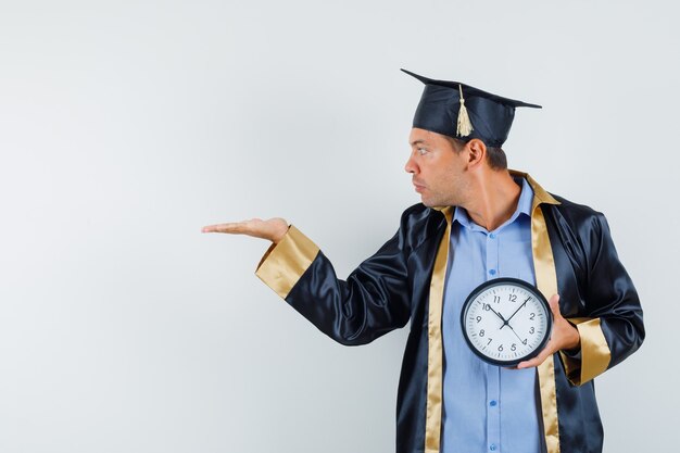
{"label": "gold satin cuff on the outstretched arm with open palm", "polygon": [[291,225],[284,239],[273,243],[262,256],[255,275],[286,299],[318,251],[319,248],[310,238]]}

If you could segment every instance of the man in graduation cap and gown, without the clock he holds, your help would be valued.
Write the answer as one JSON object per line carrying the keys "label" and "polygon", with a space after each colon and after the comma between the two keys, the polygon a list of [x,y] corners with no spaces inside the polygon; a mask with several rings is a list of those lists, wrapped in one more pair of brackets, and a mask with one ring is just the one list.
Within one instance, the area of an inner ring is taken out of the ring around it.
{"label": "man in graduation cap and gown, without the clock he holds", "polygon": [[[408,74],[425,84],[405,165],[423,202],[347,280],[281,218],[203,230],[272,240],[257,276],[336,341],[368,343],[411,320],[398,453],[602,451],[593,378],[644,338],[605,217],[507,169],[515,109],[538,105]],[[547,345],[513,369],[473,354],[459,325],[467,294],[499,277],[536,285],[553,312]]]}

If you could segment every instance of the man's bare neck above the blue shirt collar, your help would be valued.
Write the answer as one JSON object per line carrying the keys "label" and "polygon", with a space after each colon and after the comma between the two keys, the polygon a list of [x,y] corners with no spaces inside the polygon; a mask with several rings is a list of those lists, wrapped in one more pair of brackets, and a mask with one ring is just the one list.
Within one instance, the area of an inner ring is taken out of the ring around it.
{"label": "man's bare neck above the blue shirt collar", "polygon": [[475,181],[476,197],[467,206],[473,222],[491,231],[503,225],[517,210],[521,187],[507,169],[483,172]]}

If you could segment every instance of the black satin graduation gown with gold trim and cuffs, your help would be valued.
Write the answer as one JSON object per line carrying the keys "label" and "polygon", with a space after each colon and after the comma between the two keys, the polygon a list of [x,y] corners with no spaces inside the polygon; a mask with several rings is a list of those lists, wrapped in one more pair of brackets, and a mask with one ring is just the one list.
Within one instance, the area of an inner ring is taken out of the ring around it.
{"label": "black satin graduation gown with gold trim and cuffs", "polygon": [[[531,247],[537,286],[559,293],[578,328],[580,354],[555,353],[538,367],[549,453],[601,452],[593,378],[644,339],[642,309],[602,213],[546,192],[534,197]],[[411,322],[396,402],[396,452],[439,453],[442,427],[441,314],[453,206],[408,207],[396,234],[347,280],[294,226],[265,253],[256,275],[333,340],[365,344]],[[454,397],[455,398],[455,397]]]}

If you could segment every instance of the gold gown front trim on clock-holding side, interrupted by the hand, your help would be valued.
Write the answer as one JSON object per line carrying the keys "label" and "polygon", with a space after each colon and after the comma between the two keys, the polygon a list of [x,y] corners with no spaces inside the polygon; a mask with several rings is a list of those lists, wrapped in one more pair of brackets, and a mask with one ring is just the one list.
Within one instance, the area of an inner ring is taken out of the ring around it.
{"label": "gold gown front trim on clock-holding side, interrupted by the hand", "polygon": [[[531,249],[536,282],[546,300],[557,293],[557,272],[553,249],[547,236],[545,217],[540,206],[541,200],[533,198],[531,215]],[[555,390],[554,355],[538,366],[541,412],[543,415],[543,435],[547,453],[559,453],[559,423],[557,420],[557,393]]]}

